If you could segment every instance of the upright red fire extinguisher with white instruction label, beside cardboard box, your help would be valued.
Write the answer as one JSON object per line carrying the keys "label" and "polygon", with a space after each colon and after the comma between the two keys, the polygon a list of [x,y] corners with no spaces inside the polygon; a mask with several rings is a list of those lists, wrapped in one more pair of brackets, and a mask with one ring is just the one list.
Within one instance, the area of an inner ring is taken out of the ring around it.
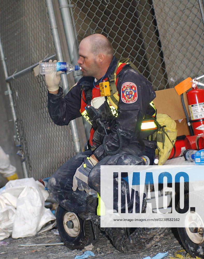
{"label": "upright red fire extinguisher with white instruction label, beside cardboard box", "polygon": [[194,135],[197,135],[204,133],[204,89],[197,88],[197,84],[201,83],[195,79],[192,81],[193,89],[187,92],[187,100]]}

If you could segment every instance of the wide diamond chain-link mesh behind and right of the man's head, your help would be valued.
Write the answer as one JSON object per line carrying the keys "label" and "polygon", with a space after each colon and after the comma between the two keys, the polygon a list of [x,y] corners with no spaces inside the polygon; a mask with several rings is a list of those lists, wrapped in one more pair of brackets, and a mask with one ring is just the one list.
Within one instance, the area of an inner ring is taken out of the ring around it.
{"label": "wide diamond chain-link mesh behind and right of the man's head", "polygon": [[203,20],[198,0],[77,0],[72,17],[81,41],[110,40],[117,58],[130,57],[155,90],[202,74]]}

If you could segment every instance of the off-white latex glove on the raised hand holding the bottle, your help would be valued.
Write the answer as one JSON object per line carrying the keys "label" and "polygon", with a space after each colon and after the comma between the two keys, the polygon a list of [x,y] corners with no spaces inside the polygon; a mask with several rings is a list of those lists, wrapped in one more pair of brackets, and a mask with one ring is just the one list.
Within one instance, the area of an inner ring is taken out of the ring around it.
{"label": "off-white latex glove on the raised hand holding the bottle", "polygon": [[[49,63],[52,63],[52,62],[56,63],[57,61],[56,60],[52,61],[52,59],[50,59]],[[57,91],[59,89],[59,84],[60,84],[60,80],[61,80],[61,77],[60,77],[61,73],[62,73],[62,71],[57,71],[57,73],[45,75],[45,83],[47,85],[48,91],[54,92],[54,91]]]}

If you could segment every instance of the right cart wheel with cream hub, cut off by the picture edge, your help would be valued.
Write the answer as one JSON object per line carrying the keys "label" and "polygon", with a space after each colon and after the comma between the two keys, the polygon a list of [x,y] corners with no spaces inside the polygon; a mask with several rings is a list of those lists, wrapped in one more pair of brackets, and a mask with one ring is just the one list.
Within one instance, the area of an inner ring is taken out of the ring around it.
{"label": "right cart wheel with cream hub, cut off by the picture edge", "polygon": [[[189,193],[184,196],[185,204],[188,206]],[[177,205],[179,212],[180,204]],[[192,256],[204,258],[204,224],[200,215],[191,210],[185,218],[185,228],[178,228],[179,237],[185,250]]]}

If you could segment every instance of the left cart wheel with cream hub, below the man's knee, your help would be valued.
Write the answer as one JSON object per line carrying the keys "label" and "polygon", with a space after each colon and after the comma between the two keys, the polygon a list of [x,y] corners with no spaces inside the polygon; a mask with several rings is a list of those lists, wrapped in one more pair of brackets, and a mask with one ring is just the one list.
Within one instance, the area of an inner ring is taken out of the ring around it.
{"label": "left cart wheel with cream hub, below the man's knee", "polygon": [[94,241],[94,232],[89,220],[83,221],[74,212],[66,211],[60,205],[56,215],[57,228],[66,247],[83,249]]}

